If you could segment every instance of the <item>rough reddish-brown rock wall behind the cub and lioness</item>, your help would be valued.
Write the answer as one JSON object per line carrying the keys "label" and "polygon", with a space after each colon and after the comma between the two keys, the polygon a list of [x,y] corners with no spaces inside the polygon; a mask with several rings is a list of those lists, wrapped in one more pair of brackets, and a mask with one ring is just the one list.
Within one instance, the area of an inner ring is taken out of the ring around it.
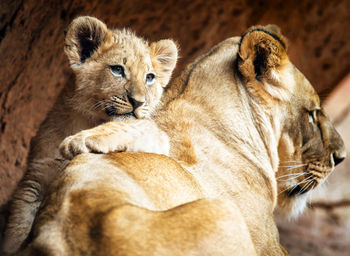
{"label": "rough reddish-brown rock wall behind the cub and lioness", "polygon": [[289,38],[292,61],[325,97],[350,68],[349,9],[346,0],[1,1],[0,211],[25,171],[31,138],[72,79],[63,31],[74,17],[96,16],[149,40],[174,38],[182,56],[176,73],[221,40],[275,23]]}

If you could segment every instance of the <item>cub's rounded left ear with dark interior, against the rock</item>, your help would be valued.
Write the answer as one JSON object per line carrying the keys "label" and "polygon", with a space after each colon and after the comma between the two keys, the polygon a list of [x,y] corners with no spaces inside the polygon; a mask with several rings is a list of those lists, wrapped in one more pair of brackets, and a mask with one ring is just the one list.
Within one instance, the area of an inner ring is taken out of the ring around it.
{"label": "cub's rounded left ear with dark interior, against the rock", "polygon": [[80,65],[104,43],[111,32],[102,21],[81,16],[69,25],[64,51],[72,67]]}

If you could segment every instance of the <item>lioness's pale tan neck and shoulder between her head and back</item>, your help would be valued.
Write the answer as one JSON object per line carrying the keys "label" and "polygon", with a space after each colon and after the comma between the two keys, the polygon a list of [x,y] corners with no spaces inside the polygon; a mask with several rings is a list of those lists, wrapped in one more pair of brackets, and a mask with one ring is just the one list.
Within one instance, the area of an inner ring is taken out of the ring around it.
{"label": "lioness's pale tan neck and shoulder between her head and back", "polygon": [[[233,72],[239,41],[225,40],[176,78],[164,95],[164,111],[154,119],[171,138],[170,156],[196,177],[205,197],[234,197],[238,205],[250,202],[242,208],[243,215],[259,219],[261,212],[272,213],[276,205],[279,134],[270,121],[276,113],[259,106]],[[222,86],[218,76],[232,87]],[[174,91],[180,93],[174,97]],[[167,102],[170,97],[175,99]],[[264,236],[259,223],[248,225]]]}

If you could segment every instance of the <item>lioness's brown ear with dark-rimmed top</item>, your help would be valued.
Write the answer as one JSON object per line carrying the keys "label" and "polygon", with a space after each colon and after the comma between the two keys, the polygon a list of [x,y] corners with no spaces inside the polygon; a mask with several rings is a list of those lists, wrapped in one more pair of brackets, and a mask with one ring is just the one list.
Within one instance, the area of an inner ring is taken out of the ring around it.
{"label": "lioness's brown ear with dark-rimmed top", "polygon": [[288,61],[287,47],[276,25],[251,27],[241,38],[238,70],[248,81],[271,78],[271,71]]}

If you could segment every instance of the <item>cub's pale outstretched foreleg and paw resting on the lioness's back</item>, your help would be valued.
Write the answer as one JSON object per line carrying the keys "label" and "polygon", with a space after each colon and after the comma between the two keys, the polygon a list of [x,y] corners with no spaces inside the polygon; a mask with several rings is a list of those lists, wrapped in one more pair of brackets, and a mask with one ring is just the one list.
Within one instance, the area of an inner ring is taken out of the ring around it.
{"label": "cub's pale outstretched foreleg and paw resting on the lioness's back", "polygon": [[108,122],[63,140],[60,152],[72,159],[87,152],[147,152],[169,154],[169,138],[152,120]]}

